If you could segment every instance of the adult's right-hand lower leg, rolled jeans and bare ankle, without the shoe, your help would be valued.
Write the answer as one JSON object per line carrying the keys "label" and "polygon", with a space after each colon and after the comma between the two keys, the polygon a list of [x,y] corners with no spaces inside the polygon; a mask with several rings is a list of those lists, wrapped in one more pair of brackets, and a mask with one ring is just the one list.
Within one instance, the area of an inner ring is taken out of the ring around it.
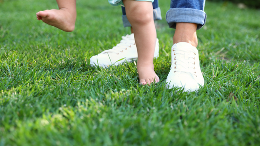
{"label": "adult's right-hand lower leg, rolled jeans and bare ankle, without the shoe", "polygon": [[167,12],[166,19],[169,26],[176,29],[174,43],[188,42],[197,47],[196,30],[206,22],[204,6],[205,0],[171,0],[171,9]]}

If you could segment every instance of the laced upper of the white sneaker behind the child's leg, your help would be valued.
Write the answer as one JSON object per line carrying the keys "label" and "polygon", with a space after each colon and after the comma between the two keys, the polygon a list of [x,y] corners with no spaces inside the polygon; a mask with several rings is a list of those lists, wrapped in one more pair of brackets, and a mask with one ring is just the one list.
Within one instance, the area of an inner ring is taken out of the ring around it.
{"label": "laced upper of the white sneaker behind the child's leg", "polygon": [[115,54],[119,55],[124,50],[131,48],[133,45],[136,45],[135,39],[131,39],[130,35],[122,36],[122,40],[120,40],[119,44],[117,44],[112,49],[101,52],[101,54],[115,53]]}

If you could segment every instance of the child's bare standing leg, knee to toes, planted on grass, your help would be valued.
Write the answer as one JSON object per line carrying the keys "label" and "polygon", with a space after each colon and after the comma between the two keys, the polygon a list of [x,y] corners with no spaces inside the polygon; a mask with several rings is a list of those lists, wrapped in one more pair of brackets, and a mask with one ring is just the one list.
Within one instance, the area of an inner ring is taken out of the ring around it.
{"label": "child's bare standing leg, knee to toes, planted on grass", "polygon": [[126,17],[133,27],[138,51],[137,71],[141,84],[159,82],[154,72],[156,30],[152,2],[123,0]]}

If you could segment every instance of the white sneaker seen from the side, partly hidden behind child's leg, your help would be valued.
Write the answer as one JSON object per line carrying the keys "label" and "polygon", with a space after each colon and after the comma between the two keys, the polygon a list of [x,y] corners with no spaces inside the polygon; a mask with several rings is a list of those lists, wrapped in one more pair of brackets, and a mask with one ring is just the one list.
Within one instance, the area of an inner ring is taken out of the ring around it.
{"label": "white sneaker seen from the side, partly hidden behind child's leg", "polygon": [[[134,34],[122,37],[119,44],[109,50],[105,50],[90,58],[91,66],[108,67],[109,65],[119,65],[125,61],[137,60],[137,48]],[[159,57],[159,40],[157,38],[154,57]]]}

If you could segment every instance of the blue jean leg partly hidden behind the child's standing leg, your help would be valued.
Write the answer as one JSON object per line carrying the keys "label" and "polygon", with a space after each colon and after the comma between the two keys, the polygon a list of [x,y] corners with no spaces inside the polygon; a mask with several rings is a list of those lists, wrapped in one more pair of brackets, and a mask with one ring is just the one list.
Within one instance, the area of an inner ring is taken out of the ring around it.
{"label": "blue jean leg partly hidden behind the child's standing leg", "polygon": [[[121,8],[122,8],[122,13],[123,13],[122,20],[123,20],[124,27],[131,27],[130,22],[126,18],[125,8],[124,7],[121,7]],[[154,20],[161,20],[161,13],[160,13],[160,7],[159,7],[158,0],[154,0],[153,9],[154,9]]]}

